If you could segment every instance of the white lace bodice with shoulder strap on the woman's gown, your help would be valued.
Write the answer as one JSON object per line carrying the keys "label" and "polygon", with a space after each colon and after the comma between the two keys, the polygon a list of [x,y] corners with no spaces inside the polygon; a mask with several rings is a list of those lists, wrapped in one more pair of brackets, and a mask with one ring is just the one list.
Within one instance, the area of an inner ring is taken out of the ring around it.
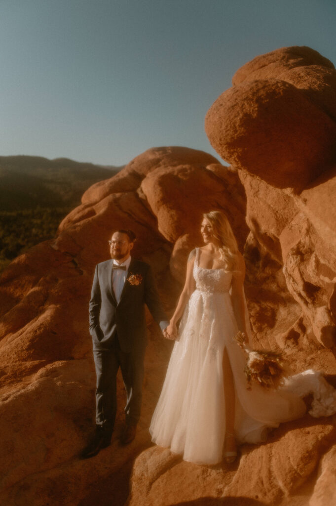
{"label": "white lace bodice with shoulder strap on the woman's gown", "polygon": [[224,269],[204,269],[199,266],[200,248],[196,248],[194,278],[196,289],[208,292],[228,292],[231,286],[232,273]]}

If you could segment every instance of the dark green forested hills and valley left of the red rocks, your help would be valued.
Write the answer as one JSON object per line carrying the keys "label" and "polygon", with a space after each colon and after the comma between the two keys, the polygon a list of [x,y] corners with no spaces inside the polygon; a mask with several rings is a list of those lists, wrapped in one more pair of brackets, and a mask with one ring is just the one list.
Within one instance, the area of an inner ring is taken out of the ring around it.
{"label": "dark green forested hills and valley left of the red rocks", "polygon": [[120,168],[66,158],[0,156],[0,272],[25,249],[52,238],[84,191]]}

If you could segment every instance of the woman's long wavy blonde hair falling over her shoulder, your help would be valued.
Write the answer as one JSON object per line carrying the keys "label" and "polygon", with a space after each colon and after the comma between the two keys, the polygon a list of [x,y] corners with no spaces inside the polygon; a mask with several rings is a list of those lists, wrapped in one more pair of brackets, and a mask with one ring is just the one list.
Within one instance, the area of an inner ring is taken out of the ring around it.
{"label": "woman's long wavy blonde hair falling over her shoulder", "polygon": [[235,271],[238,266],[238,245],[228,219],[221,211],[204,213],[203,218],[211,225],[215,239],[220,243],[220,260],[227,271]]}

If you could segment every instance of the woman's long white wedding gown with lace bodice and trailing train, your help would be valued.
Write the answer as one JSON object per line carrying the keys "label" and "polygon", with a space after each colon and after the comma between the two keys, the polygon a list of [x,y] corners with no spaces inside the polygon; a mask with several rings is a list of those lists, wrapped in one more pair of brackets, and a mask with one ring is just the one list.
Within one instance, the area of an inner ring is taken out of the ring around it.
{"label": "woman's long white wedding gown with lace bodice and trailing train", "polygon": [[[225,435],[223,350],[227,350],[235,388],[234,431],[238,443],[264,441],[267,430],[302,416],[301,397],[312,392],[313,416],[336,412],[336,391],[321,373],[308,370],[286,379],[283,387],[247,390],[246,355],[233,337],[238,331],[232,309],[232,274],[224,269],[199,266],[196,249],[196,289],[184,310],[156,406],[152,440],[184,460],[215,464],[222,460]],[[228,406],[230,409],[230,406]]]}

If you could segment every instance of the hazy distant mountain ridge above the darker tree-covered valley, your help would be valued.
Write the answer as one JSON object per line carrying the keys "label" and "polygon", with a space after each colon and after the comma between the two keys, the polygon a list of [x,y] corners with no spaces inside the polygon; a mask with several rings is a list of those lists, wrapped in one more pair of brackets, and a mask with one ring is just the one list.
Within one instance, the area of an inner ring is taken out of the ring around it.
{"label": "hazy distant mountain ridge above the darker tree-covered valley", "polygon": [[40,156],[0,156],[0,211],[76,206],[84,191],[122,167],[49,160]]}

